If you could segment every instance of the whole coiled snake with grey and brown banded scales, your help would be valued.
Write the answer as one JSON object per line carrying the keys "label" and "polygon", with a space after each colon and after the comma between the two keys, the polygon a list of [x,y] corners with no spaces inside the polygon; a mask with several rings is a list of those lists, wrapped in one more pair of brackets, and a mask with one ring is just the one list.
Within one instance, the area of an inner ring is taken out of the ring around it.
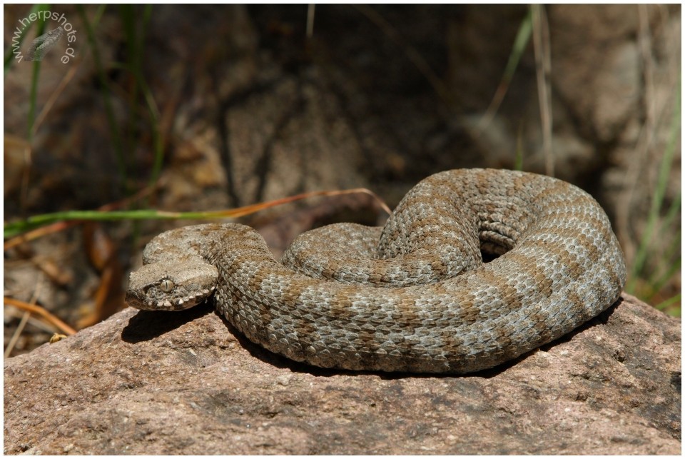
{"label": "whole coiled snake with grey and brown banded scales", "polygon": [[322,368],[460,375],[566,335],[616,303],[625,282],[589,193],[535,173],[454,169],[417,183],[385,226],[315,228],[280,261],[239,223],[161,233],[126,303],[213,301],[253,343]]}

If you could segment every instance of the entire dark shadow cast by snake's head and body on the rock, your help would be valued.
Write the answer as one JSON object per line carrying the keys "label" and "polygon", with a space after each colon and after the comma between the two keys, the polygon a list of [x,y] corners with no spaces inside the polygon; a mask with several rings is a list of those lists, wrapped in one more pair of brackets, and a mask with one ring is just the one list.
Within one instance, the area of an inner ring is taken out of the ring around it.
{"label": "entire dark shadow cast by snake's head and body on the rock", "polygon": [[196,320],[206,316],[207,314],[214,313],[224,324],[226,330],[231,333],[235,339],[240,343],[245,350],[250,353],[253,358],[262,360],[264,363],[273,365],[276,368],[287,368],[293,373],[306,373],[309,375],[320,376],[320,377],[330,377],[335,375],[350,375],[352,377],[361,375],[377,375],[382,380],[396,380],[404,378],[494,378],[495,376],[503,373],[504,371],[512,368],[514,365],[518,365],[523,360],[529,358],[537,352],[538,349],[548,351],[554,346],[560,343],[567,343],[571,341],[574,336],[578,333],[582,333],[589,328],[601,326],[609,321],[616,308],[618,308],[621,303],[623,303],[623,297],[609,306],[606,311],[600,313],[597,317],[584,323],[582,326],[575,328],[573,331],[567,333],[561,338],[530,350],[527,353],[519,355],[519,357],[509,360],[505,363],[497,365],[493,368],[488,368],[487,370],[480,370],[474,373],[467,373],[466,375],[453,375],[453,374],[440,374],[440,373],[405,373],[405,372],[384,372],[384,371],[359,371],[359,370],[340,370],[337,368],[319,368],[313,365],[308,365],[307,363],[295,362],[295,360],[290,360],[281,355],[270,352],[253,343],[252,341],[245,338],[243,333],[240,333],[238,329],[228,322],[222,314],[215,311],[215,308],[207,302],[202,305],[190,308],[186,311],[139,311],[136,316],[133,316],[128,322],[122,333],[121,338],[123,341],[128,343],[140,343],[142,341],[148,341],[157,336],[161,336],[164,333],[174,330],[182,326],[184,323]]}

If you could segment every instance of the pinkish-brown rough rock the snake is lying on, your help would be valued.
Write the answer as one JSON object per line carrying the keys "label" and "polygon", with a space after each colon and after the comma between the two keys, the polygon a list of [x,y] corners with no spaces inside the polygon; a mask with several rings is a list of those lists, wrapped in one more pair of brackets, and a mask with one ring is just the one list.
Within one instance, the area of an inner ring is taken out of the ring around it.
{"label": "pinkish-brown rough rock the snake is lying on", "polygon": [[681,325],[636,298],[464,377],[290,362],[209,306],[4,361],[6,454],[679,454]]}

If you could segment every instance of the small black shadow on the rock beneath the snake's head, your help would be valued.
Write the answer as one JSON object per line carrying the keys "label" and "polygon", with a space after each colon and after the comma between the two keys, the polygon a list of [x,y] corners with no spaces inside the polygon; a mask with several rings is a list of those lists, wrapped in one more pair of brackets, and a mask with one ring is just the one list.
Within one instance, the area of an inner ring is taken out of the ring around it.
{"label": "small black shadow on the rock beneath the snake's head", "polygon": [[138,311],[121,331],[121,339],[126,343],[149,341],[175,330],[184,323],[201,318],[213,309],[210,303],[205,302],[185,311]]}

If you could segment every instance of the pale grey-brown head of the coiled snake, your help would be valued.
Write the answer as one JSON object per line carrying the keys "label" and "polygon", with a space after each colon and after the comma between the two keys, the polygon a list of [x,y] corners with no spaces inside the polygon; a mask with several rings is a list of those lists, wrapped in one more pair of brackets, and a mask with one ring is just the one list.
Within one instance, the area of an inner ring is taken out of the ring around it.
{"label": "pale grey-brown head of the coiled snake", "polygon": [[150,263],[128,276],[126,304],[146,311],[181,311],[214,292],[217,269],[201,262]]}

